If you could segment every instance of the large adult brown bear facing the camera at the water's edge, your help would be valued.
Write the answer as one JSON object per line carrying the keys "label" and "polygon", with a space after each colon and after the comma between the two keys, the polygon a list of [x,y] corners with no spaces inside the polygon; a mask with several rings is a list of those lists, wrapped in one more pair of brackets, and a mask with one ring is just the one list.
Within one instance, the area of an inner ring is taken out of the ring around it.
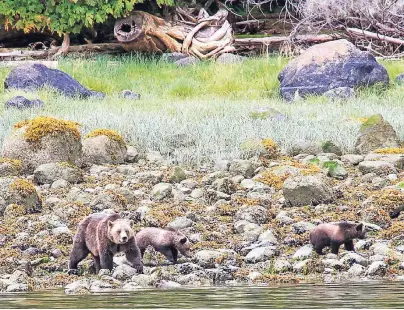
{"label": "large adult brown bear facing the camera at the water's edge", "polygon": [[132,221],[118,214],[95,213],[78,226],[70,254],[69,273],[77,273],[77,264],[91,253],[96,273],[113,268],[113,256],[125,252],[126,258],[139,273],[143,273],[140,250],[136,245]]}

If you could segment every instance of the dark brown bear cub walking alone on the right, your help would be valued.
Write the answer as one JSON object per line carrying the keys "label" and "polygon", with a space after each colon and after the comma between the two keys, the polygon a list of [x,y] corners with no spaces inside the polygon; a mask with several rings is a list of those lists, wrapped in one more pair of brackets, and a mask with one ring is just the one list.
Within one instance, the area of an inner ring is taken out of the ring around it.
{"label": "dark brown bear cub walking alone on the right", "polygon": [[331,247],[331,253],[338,255],[341,244],[345,245],[345,250],[355,251],[353,239],[365,239],[365,226],[360,223],[326,223],[320,224],[310,232],[310,242],[317,254],[323,255],[323,248]]}

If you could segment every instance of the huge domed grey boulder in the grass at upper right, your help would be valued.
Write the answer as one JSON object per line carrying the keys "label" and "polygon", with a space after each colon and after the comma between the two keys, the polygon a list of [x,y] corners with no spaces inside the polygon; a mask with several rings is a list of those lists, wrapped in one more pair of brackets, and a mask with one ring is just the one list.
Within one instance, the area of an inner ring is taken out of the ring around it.
{"label": "huge domed grey boulder in the grass at upper right", "polygon": [[321,95],[334,88],[389,83],[386,69],[347,40],[308,48],[281,71],[278,79],[286,100],[293,100],[296,93],[304,97]]}

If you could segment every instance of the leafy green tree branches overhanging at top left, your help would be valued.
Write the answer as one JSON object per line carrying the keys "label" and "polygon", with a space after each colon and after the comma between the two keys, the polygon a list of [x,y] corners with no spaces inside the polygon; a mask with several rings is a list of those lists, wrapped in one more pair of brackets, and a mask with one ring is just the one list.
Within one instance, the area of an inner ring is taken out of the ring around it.
{"label": "leafy green tree branches overhanging at top left", "polygon": [[[62,47],[56,55],[68,52],[70,34],[84,27],[103,23],[109,16],[128,15],[136,3],[143,0],[1,0],[0,16],[4,16],[6,29],[44,31],[63,35]],[[173,5],[174,0],[157,0],[157,5]]]}

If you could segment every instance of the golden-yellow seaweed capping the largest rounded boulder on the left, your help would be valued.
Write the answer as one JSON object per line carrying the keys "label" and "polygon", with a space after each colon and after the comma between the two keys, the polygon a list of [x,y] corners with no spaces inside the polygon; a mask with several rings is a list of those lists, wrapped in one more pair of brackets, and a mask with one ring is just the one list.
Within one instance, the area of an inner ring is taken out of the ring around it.
{"label": "golden-yellow seaweed capping the largest rounded boulder on the left", "polygon": [[56,133],[70,133],[80,140],[79,124],[72,121],[61,120],[48,116],[38,116],[30,121],[22,121],[14,125],[14,128],[27,127],[25,139],[28,142],[39,142],[43,137]]}

